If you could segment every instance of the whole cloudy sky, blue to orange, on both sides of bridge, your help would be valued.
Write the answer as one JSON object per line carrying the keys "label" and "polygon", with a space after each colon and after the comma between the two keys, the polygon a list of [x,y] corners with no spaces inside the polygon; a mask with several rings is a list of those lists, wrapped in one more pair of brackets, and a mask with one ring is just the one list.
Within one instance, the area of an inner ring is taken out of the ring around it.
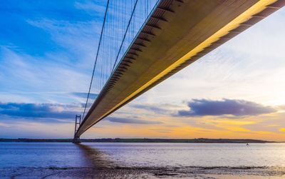
{"label": "whole cloudy sky, blue to orange, on both sides of bridge", "polygon": [[[0,138],[72,138],[105,1],[0,1]],[[123,106],[82,138],[285,141],[285,9]],[[91,91],[95,98],[96,91]]]}

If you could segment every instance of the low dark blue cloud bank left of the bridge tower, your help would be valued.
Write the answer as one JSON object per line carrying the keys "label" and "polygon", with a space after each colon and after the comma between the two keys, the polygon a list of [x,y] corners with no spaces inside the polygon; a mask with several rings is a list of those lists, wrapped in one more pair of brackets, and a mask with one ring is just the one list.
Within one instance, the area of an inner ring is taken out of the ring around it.
{"label": "low dark blue cloud bank left of the bridge tower", "polygon": [[0,116],[19,118],[74,118],[80,106],[57,103],[0,103]]}

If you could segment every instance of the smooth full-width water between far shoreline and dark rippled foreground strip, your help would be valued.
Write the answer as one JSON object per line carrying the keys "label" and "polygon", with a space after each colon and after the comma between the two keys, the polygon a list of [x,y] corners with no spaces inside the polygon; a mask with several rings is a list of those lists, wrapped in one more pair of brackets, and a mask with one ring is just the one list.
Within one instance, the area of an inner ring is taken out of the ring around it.
{"label": "smooth full-width water between far shoreline and dark rippled foreground strip", "polygon": [[9,167],[285,167],[285,143],[0,143]]}

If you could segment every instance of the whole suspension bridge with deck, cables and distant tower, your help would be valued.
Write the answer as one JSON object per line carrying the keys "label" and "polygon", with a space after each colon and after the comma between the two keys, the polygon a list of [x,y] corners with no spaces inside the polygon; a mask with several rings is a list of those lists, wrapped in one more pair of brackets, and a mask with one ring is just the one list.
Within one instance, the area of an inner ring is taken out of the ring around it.
{"label": "whole suspension bridge with deck, cables and distant tower", "polygon": [[[110,113],[284,5],[285,0],[108,0],[73,142]],[[98,96],[90,98],[91,92]]]}

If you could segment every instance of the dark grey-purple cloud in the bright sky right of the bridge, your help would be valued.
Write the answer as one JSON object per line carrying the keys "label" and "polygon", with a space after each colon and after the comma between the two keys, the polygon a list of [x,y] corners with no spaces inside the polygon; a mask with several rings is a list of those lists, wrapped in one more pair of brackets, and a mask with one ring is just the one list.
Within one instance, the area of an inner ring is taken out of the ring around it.
{"label": "dark grey-purple cloud in the bright sky right of the bridge", "polygon": [[188,103],[188,107],[190,110],[178,111],[178,116],[257,116],[276,111],[270,106],[262,106],[259,103],[231,99],[222,101],[193,99]]}

